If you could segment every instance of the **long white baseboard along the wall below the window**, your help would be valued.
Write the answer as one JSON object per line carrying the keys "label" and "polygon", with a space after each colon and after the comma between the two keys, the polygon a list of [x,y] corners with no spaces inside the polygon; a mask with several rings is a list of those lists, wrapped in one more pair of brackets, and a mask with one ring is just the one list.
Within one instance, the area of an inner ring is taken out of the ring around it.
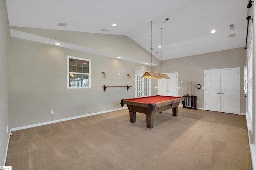
{"label": "long white baseboard along the wall below the window", "polygon": [[127,108],[128,107],[122,107],[122,108],[118,108],[118,109],[112,109],[112,110],[107,110],[107,111],[100,111],[100,112],[96,112],[96,113],[89,113],[89,114],[86,114],[86,115],[80,115],[80,116],[75,116],[75,117],[68,117],[68,118],[65,118],[65,119],[58,119],[58,120],[54,120],[54,121],[47,121],[47,122],[43,122],[43,123],[37,123],[37,124],[34,124],[34,125],[27,125],[27,126],[22,126],[22,127],[14,127],[14,128],[11,129],[11,132],[12,131],[22,130],[22,129],[27,129],[27,128],[30,128],[30,127],[37,127],[37,126],[42,126],[42,125],[48,125],[48,124],[51,124],[51,123],[57,123],[57,122],[67,121],[67,120],[72,120],[72,119],[78,119],[78,118],[81,118],[81,117],[98,115],[98,114],[102,114],[102,113],[108,113],[108,112],[111,112],[111,111],[117,111],[117,110],[122,110],[122,109],[127,109]]}

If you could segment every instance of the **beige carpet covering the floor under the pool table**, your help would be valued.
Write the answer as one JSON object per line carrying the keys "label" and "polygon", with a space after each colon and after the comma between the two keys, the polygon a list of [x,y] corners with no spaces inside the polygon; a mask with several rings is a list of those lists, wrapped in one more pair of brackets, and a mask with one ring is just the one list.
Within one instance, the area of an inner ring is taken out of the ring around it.
{"label": "beige carpet covering the floor under the pool table", "polygon": [[13,131],[13,170],[252,170],[244,115],[178,108],[154,116],[128,109]]}

